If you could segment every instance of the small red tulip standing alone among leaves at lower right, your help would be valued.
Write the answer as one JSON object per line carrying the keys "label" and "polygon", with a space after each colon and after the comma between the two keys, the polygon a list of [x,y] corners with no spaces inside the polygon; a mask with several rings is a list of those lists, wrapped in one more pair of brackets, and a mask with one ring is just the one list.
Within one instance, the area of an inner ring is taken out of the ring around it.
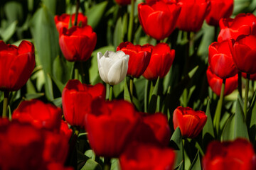
{"label": "small red tulip standing alone among leaves at lower right", "polygon": [[206,125],[207,116],[203,111],[194,111],[192,108],[179,106],[173,115],[174,129],[181,130],[183,137],[194,138],[203,130]]}

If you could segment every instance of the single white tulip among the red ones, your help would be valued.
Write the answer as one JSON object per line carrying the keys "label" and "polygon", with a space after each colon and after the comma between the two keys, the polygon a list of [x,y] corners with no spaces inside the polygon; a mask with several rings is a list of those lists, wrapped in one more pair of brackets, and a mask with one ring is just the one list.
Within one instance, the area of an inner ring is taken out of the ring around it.
{"label": "single white tulip among the red ones", "polygon": [[110,85],[119,84],[126,77],[129,55],[122,51],[106,51],[104,55],[97,52],[100,78]]}

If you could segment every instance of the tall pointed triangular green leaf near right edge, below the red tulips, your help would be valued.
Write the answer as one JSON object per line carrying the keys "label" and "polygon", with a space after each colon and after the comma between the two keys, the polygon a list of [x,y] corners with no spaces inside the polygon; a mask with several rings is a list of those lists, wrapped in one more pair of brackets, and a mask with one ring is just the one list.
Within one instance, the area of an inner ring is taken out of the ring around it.
{"label": "tall pointed triangular green leaf near right edge, below the red tulips", "polygon": [[242,111],[242,106],[240,105],[239,99],[236,102],[235,108],[235,128],[234,128],[234,137],[243,137],[249,140],[249,135],[245,122],[245,115]]}

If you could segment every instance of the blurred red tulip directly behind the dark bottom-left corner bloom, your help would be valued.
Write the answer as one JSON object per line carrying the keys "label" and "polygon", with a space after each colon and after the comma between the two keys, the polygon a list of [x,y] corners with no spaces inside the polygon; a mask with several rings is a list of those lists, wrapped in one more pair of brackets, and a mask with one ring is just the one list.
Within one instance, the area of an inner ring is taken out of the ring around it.
{"label": "blurred red tulip directly behind the dark bottom-left corner bloom", "polygon": [[62,111],[60,108],[37,99],[22,101],[12,115],[13,120],[31,123],[36,128],[59,132]]}

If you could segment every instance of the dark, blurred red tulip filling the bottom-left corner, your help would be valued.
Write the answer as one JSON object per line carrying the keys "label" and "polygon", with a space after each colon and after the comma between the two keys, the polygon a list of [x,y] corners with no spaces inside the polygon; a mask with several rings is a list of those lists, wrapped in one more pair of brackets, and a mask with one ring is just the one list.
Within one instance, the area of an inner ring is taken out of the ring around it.
{"label": "dark, blurred red tulip filling the bottom-left corner", "polygon": [[43,170],[43,139],[41,130],[30,124],[14,120],[4,125],[0,130],[0,169]]}

